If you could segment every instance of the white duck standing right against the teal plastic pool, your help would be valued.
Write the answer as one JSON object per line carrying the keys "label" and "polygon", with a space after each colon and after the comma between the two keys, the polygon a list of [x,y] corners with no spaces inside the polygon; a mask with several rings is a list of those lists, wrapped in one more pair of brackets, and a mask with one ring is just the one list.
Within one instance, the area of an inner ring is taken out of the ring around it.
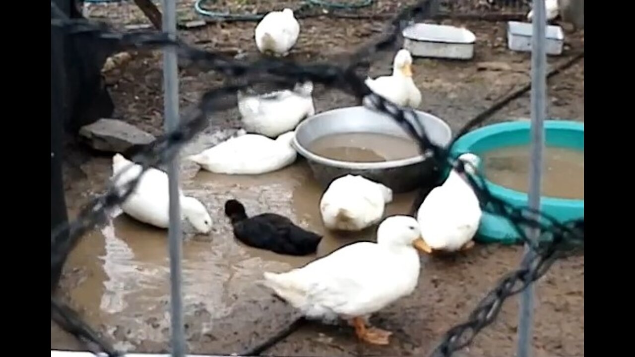
{"label": "white duck standing right against the teal plastic pool", "polygon": [[[474,174],[481,159],[470,152],[458,157],[464,161],[465,171]],[[483,212],[471,185],[455,169],[443,185],[430,191],[417,212],[417,220],[427,248],[455,252],[474,246],[474,234],[478,229]]]}

